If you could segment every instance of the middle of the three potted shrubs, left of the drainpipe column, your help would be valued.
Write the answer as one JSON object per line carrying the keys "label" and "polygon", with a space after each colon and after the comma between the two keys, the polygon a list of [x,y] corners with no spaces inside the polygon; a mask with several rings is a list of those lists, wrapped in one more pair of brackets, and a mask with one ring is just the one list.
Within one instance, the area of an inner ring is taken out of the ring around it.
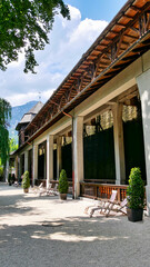
{"label": "middle of the three potted shrubs, left of the drainpipe column", "polygon": [[62,169],[60,172],[59,186],[58,186],[58,190],[60,192],[60,198],[62,200],[67,199],[68,187],[69,187],[69,185],[68,185],[67,172],[64,169]]}

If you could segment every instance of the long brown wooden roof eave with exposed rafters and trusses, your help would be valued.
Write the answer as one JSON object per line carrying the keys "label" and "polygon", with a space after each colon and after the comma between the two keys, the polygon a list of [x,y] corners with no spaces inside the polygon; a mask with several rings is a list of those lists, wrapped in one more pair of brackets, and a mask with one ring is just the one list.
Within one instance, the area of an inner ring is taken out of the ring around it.
{"label": "long brown wooden roof eave with exposed rafters and trusses", "polygon": [[[62,118],[64,116],[62,111],[70,112],[149,49],[150,0],[129,0],[82,56],[26,130],[30,131],[33,125],[38,125],[39,119],[43,118],[49,109],[57,109],[57,112],[39,129],[36,128],[33,135],[18,150]],[[89,82],[92,72],[90,68],[96,69]],[[80,88],[78,92],[76,92],[77,88]],[[70,98],[61,108],[62,98],[67,98],[70,90],[72,90],[73,98]]]}

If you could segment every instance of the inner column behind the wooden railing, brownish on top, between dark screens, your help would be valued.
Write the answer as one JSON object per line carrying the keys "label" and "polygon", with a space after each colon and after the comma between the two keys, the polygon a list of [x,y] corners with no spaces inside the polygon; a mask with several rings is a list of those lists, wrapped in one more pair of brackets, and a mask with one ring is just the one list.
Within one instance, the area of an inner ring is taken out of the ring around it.
{"label": "inner column behind the wooden railing, brownish on top, between dark screens", "polygon": [[116,185],[123,185],[126,180],[124,165],[124,141],[122,125],[122,103],[116,103],[112,108],[113,113],[113,138],[116,158]]}

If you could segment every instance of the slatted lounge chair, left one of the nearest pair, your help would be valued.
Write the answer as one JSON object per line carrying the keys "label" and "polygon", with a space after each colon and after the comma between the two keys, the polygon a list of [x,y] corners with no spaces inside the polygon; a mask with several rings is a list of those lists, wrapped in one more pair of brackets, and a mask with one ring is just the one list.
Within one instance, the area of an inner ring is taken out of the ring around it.
{"label": "slatted lounge chair, left one of the nearest pair", "polygon": [[100,205],[90,209],[90,218],[92,217],[96,210],[100,210],[100,212],[104,212],[106,216],[109,215],[110,210],[113,208],[117,198],[117,190],[112,190],[110,199],[101,199]]}

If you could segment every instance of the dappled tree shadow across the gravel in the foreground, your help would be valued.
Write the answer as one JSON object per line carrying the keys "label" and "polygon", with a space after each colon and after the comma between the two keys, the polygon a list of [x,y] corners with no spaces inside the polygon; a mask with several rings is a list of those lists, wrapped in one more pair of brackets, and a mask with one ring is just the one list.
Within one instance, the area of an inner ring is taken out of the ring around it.
{"label": "dappled tree shadow across the gravel in the foreground", "polygon": [[127,230],[126,217],[68,217],[28,226],[3,225],[1,263],[11,267],[123,267],[132,259],[132,266],[148,267],[149,237],[143,234],[143,224],[129,224]]}

